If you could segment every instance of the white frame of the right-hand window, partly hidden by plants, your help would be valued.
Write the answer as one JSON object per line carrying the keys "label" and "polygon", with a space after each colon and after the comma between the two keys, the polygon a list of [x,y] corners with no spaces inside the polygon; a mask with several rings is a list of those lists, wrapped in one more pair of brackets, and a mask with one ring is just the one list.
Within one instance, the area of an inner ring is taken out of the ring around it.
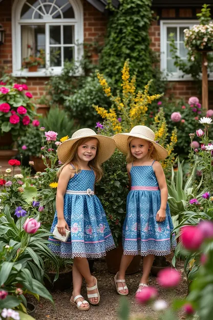
{"label": "white frame of the right-hand window, partly hidden by plants", "polygon": [[[167,75],[168,81],[188,81],[193,80],[193,78],[186,74],[182,77],[183,73],[181,71],[178,72],[168,72],[167,71],[167,27],[189,27],[191,28],[194,25],[198,25],[198,20],[161,20],[160,21],[160,68],[161,71]],[[209,80],[213,79],[213,75],[211,74]]]}

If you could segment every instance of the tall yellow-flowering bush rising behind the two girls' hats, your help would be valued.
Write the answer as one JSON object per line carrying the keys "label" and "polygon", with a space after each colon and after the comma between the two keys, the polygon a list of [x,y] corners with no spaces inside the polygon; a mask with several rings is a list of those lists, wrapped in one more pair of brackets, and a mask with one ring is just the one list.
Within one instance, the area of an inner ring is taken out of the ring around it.
{"label": "tall yellow-flowering bush rising behind the two girls' hats", "polygon": [[[93,105],[96,112],[104,119],[103,130],[101,130],[103,134],[112,135],[120,132],[130,132],[134,126],[147,124],[148,106],[162,96],[162,94],[149,94],[152,80],[147,83],[143,91],[136,92],[136,76],[134,75],[132,78],[130,76],[129,59],[125,61],[122,69],[122,89],[121,92],[117,92],[117,96],[112,94],[111,87],[102,74],[98,73],[97,77],[103,91],[112,102],[109,111]],[[173,150],[177,143],[177,129],[175,128],[172,131],[169,138],[162,108],[156,114],[151,128],[155,132],[156,140],[168,151],[168,157],[162,162],[166,174],[171,170],[175,160]]]}

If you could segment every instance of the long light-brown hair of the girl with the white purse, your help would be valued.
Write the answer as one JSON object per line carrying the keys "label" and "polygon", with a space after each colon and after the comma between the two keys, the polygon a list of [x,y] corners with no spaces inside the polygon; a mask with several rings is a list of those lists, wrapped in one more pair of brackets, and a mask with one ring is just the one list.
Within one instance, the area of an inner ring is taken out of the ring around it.
{"label": "long light-brown hair of the girl with the white purse", "polygon": [[[65,164],[63,164],[60,169],[57,172],[57,176],[59,177],[62,169],[67,166],[72,164],[74,168],[70,168],[70,171],[72,173],[80,173],[81,169],[79,167],[79,157],[77,154],[77,149],[79,146],[86,144],[88,141],[92,140],[92,139],[97,139],[94,137],[88,137],[88,138],[81,138],[78,141],[76,141],[74,143],[74,145],[72,146],[72,148],[70,149],[70,156],[68,158],[68,160],[66,161]],[[103,175],[103,170],[100,166],[100,164],[98,163],[98,153],[99,153],[99,140],[97,139],[97,150],[96,150],[96,155],[95,157],[89,161],[88,165],[94,170],[95,174],[96,174],[96,178],[95,178],[95,182],[100,181],[100,179],[102,178]]]}

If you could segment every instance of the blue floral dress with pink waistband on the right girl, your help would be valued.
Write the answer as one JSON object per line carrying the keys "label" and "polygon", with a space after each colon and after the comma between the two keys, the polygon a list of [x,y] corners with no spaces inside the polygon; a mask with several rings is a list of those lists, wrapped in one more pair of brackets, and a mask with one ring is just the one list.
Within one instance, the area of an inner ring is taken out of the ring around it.
{"label": "blue floral dress with pink waistband on the right girl", "polygon": [[126,202],[123,253],[142,256],[171,253],[171,248],[175,248],[176,241],[173,234],[171,243],[173,223],[168,203],[165,221],[156,221],[161,197],[153,164],[152,166],[132,165],[130,175],[132,186]]}

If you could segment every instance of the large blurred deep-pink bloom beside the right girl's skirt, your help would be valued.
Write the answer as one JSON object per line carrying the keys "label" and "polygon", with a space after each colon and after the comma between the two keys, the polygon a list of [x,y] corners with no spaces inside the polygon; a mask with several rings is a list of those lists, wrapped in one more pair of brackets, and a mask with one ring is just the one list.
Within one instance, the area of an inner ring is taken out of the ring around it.
{"label": "large blurred deep-pink bloom beside the right girl's skirt", "polygon": [[187,250],[198,250],[203,243],[203,232],[195,226],[185,226],[181,228],[180,240]]}

